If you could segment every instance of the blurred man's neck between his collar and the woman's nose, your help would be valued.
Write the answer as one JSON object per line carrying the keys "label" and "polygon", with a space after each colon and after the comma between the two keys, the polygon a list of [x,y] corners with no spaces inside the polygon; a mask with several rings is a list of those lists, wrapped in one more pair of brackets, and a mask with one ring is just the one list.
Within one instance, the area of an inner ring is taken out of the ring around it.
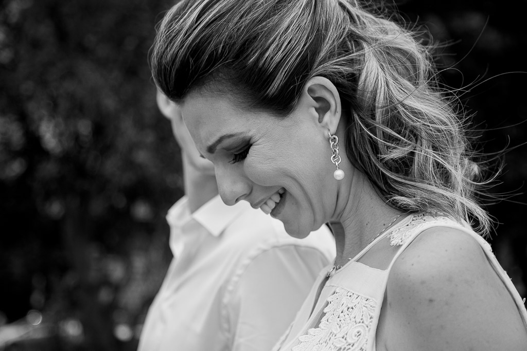
{"label": "blurred man's neck between his collar and the woman's nose", "polygon": [[196,169],[184,153],[182,153],[181,158],[183,160],[185,194],[188,197],[190,212],[194,213],[194,211],[218,195],[218,185],[213,174],[204,173]]}

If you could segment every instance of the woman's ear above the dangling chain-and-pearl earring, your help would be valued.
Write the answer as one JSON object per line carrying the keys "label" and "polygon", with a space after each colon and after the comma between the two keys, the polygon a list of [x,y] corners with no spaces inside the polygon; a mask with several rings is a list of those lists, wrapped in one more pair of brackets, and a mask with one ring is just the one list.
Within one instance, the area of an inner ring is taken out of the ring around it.
{"label": "woman's ear above the dangling chain-and-pearl earring", "polygon": [[318,116],[318,123],[335,134],[342,114],[340,95],[335,85],[327,78],[316,76],[307,81],[304,93],[309,108],[313,108]]}

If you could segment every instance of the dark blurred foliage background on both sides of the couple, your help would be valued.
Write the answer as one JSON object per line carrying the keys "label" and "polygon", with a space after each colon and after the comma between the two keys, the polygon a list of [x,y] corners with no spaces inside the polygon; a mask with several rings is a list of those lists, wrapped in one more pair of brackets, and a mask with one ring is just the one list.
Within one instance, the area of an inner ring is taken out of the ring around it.
{"label": "dark blurred foliage background on both sides of the couple", "polygon": [[[168,0],[0,3],[0,350],[134,350],[171,259],[180,155],[148,51]],[[398,0],[506,166],[496,256],[527,295],[524,2]],[[518,148],[515,148],[519,146]],[[494,201],[490,201],[494,202]],[[8,341],[10,340],[10,341]]]}

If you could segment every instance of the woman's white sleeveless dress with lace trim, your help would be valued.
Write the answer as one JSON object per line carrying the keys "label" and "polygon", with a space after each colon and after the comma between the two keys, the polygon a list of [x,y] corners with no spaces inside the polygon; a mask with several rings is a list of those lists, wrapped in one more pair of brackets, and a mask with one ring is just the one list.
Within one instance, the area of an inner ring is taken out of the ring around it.
{"label": "woman's white sleeveless dress with lace trim", "polygon": [[[329,279],[331,266],[328,266],[318,276],[294,322],[273,351],[374,351],[380,307],[393,263],[417,235],[438,226],[460,229],[475,238],[527,325],[527,312],[520,295],[480,235],[468,225],[462,226],[447,217],[414,214],[376,238],[343,268],[331,272]],[[378,259],[379,256],[384,258]]]}

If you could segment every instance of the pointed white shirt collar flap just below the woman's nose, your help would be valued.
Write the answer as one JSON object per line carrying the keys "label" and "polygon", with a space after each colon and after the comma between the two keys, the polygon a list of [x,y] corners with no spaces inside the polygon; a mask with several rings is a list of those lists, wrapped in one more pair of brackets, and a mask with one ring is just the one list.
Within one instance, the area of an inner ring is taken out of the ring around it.
{"label": "pointed white shirt collar flap just below the woman's nose", "polygon": [[214,196],[192,214],[192,218],[201,224],[212,236],[219,236],[225,228],[243,211],[250,208],[246,201],[227,206],[219,195]]}

